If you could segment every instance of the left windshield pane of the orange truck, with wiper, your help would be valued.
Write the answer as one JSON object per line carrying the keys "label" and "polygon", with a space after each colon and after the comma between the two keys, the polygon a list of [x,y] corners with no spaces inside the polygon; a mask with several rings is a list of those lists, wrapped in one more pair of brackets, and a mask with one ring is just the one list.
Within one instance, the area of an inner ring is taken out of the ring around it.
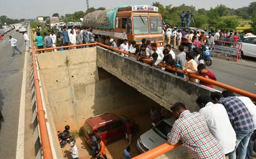
{"label": "left windshield pane of the orange truck, with wiper", "polygon": [[147,17],[133,17],[134,34],[149,34],[149,24]]}

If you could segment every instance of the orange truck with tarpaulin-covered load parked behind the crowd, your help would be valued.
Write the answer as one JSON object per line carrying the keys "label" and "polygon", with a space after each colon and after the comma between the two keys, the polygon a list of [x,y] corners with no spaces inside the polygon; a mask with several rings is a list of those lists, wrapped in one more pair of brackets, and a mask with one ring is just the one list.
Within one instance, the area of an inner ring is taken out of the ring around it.
{"label": "orange truck with tarpaulin-covered load parked behind the crowd", "polygon": [[142,39],[157,43],[158,49],[164,48],[162,16],[158,7],[150,5],[118,6],[113,10],[98,10],[83,18],[83,27],[93,29],[100,43],[109,43],[114,39],[117,46],[124,39],[140,44]]}

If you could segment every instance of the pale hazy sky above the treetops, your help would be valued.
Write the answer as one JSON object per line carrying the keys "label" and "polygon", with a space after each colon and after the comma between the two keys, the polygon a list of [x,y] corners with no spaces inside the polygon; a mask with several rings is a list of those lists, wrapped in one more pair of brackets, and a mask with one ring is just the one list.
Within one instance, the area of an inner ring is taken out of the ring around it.
{"label": "pale hazy sky above the treetops", "polygon": [[[75,11],[86,10],[86,0],[0,0],[0,15],[6,15],[9,18],[36,18],[38,16],[52,16],[53,13],[65,15]],[[230,8],[239,8],[248,6],[255,0],[89,0],[89,7],[105,7],[111,9],[117,5],[151,5],[158,1],[163,5],[179,6],[182,3],[194,5],[196,9],[204,7],[209,10],[210,7],[216,7],[218,4],[224,4]]]}

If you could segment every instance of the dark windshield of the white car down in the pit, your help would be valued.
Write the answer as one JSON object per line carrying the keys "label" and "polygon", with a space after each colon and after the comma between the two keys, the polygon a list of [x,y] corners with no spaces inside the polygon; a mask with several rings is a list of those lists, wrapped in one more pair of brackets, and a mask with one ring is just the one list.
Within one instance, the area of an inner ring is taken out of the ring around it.
{"label": "dark windshield of the white car down in the pit", "polygon": [[167,134],[171,132],[171,126],[162,120],[153,128],[153,130],[159,136],[163,137],[164,140],[167,140]]}

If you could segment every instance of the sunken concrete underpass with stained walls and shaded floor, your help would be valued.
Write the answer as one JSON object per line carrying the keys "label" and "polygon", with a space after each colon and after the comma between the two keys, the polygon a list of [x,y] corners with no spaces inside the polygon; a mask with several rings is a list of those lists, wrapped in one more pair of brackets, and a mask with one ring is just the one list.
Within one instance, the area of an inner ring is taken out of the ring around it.
{"label": "sunken concrete underpass with stained walls and shaded floor", "polygon": [[[70,147],[60,149],[57,139],[57,131],[64,130],[65,125],[80,134],[76,144],[80,158],[87,159],[91,158],[91,148],[82,137],[82,126],[87,118],[107,112],[134,118],[139,123],[131,146],[134,157],[139,154],[137,139],[152,128],[149,117],[152,106],[157,108],[160,120],[162,106],[169,109],[180,101],[189,110],[196,111],[196,97],[214,91],[101,47],[37,54],[37,62],[47,121],[53,130],[52,140],[57,153],[69,159],[72,157],[65,150]],[[106,146],[107,157],[122,159],[127,145],[125,139],[110,143]],[[185,156],[184,148],[178,147],[159,158]]]}

